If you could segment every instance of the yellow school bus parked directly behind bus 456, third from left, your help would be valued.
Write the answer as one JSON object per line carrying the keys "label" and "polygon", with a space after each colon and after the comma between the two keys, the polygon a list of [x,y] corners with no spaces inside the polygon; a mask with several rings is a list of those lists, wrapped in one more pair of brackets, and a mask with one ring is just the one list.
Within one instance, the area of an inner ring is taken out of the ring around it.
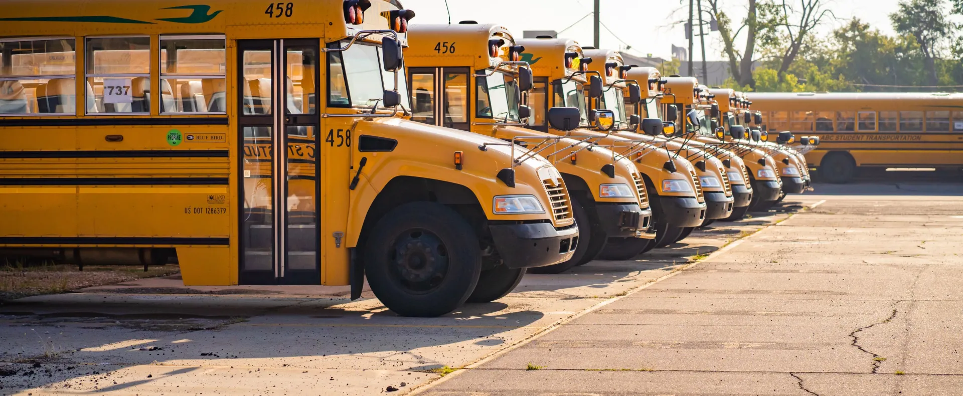
{"label": "yellow school bus parked directly behind bus 456, third from left", "polygon": [[[630,137],[622,131],[637,130],[626,119],[619,120],[609,131],[594,128],[590,118],[587,100],[601,100],[604,95],[602,83],[598,92],[588,92],[586,84],[590,79],[601,79],[601,73],[589,70],[594,62],[586,57],[582,46],[575,40],[566,39],[525,39],[516,40],[525,47],[523,60],[529,62],[534,74],[534,90],[529,94],[529,106],[535,115],[528,126],[534,130],[553,135],[577,134],[600,138],[599,145],[607,145],[619,156],[629,158],[635,163],[645,183],[646,193],[652,205],[656,239],[652,243],[638,238],[610,240],[602,251],[601,257],[625,259],[638,255],[655,246],[672,243],[685,227],[702,224],[706,214],[706,204],[694,168],[685,158],[667,152],[661,143],[650,136],[631,133]],[[607,77],[611,81],[619,76]],[[586,96],[588,96],[586,98]],[[617,96],[617,95],[616,95]],[[566,132],[560,125],[553,125],[547,118],[537,115],[548,113],[550,107],[571,107],[579,109],[579,128]]]}

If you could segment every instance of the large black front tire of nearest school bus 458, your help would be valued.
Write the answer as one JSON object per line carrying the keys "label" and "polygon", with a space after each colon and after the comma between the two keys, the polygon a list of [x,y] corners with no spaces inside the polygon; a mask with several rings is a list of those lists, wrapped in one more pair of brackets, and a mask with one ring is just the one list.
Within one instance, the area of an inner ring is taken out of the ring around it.
{"label": "large black front tire of nearest school bus 458", "polygon": [[371,291],[402,316],[435,317],[455,310],[481,275],[475,230],[438,203],[392,209],[374,225],[361,251]]}

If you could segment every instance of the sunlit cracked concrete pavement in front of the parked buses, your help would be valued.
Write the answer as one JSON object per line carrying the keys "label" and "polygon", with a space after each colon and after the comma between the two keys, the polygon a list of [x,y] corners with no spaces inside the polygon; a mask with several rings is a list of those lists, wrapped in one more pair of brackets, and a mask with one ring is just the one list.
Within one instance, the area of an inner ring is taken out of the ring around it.
{"label": "sunlit cracked concrete pavement in front of the parked buses", "polygon": [[421,390],[963,394],[963,198],[805,197],[826,200]]}

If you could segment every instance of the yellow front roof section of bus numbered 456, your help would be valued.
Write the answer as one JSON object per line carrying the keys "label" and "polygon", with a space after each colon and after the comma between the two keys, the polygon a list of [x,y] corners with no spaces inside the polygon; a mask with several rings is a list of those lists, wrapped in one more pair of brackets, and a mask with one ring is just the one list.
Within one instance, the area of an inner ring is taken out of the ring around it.
{"label": "yellow front roof section of bus numbered 456", "polygon": [[[479,57],[478,54],[488,53],[489,40],[496,39],[504,41],[498,51],[499,57]],[[448,54],[439,52],[435,45],[440,41],[448,41],[452,45],[456,43],[457,47]],[[408,29],[404,63],[409,67],[472,65],[473,69],[481,70],[508,61],[508,46],[514,44],[508,28],[496,23],[413,24]],[[439,58],[443,58],[441,64]]]}

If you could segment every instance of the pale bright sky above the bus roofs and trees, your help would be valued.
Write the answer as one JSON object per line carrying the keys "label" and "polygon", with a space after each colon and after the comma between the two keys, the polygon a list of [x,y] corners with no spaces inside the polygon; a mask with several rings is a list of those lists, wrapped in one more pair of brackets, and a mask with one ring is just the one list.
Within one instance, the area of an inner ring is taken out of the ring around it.
{"label": "pale bright sky above the bus roofs and trees", "polygon": [[[448,23],[445,0],[400,0],[404,8],[416,13],[412,24]],[[671,46],[688,46],[681,23],[688,18],[689,1],[684,0],[600,0],[601,47],[622,49],[638,56],[671,58]],[[694,0],[693,0],[694,1]],[[798,0],[796,0],[798,1]],[[720,0],[734,22],[742,20],[748,1]],[[792,3],[792,0],[789,1]],[[475,20],[479,23],[500,23],[513,35],[521,38],[525,30],[555,30],[560,37],[592,45],[592,17],[594,0],[448,0],[452,23]],[[883,33],[893,34],[889,14],[898,8],[898,0],[826,0],[826,8],[838,19],[829,20],[820,28],[820,35],[828,35],[835,27],[857,16]],[[703,7],[708,3],[703,1]],[[587,17],[579,21],[583,16]],[[708,17],[708,16],[707,16]],[[608,30],[606,29],[608,28]],[[696,28],[697,29],[697,28]],[[708,31],[708,28],[707,28]],[[697,33],[697,32],[696,32]],[[744,34],[743,34],[744,36]],[[699,41],[694,44],[699,60]],[[706,38],[706,59],[722,60],[722,43],[717,32]]]}

